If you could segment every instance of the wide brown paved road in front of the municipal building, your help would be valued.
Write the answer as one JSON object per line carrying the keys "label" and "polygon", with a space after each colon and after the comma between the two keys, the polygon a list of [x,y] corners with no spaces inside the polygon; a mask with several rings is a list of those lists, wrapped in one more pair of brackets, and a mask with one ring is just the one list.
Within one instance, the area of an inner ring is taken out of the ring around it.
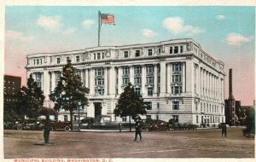
{"label": "wide brown paved road in front of the municipal building", "polygon": [[43,131],[4,130],[4,158],[254,158],[254,139],[241,128],[143,132],[51,131],[53,145],[42,146]]}

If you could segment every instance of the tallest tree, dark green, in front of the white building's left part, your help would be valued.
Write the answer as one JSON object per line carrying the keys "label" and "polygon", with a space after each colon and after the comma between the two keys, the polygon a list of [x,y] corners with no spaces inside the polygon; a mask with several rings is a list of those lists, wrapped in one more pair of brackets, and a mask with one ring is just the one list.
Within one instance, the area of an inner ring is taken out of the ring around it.
{"label": "tallest tree, dark green, in front of the white building's left part", "polygon": [[77,68],[73,67],[71,61],[67,61],[67,65],[62,68],[62,76],[55,90],[49,98],[55,101],[55,110],[64,108],[70,113],[71,130],[73,130],[73,113],[77,109],[78,103],[81,106],[88,104],[85,97],[89,93],[89,89],[82,86],[81,78],[77,74]]}

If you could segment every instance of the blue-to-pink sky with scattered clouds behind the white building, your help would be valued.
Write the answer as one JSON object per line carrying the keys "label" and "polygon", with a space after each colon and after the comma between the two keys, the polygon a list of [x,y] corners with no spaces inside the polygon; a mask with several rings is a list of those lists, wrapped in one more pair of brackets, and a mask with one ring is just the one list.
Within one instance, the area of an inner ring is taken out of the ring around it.
{"label": "blue-to-pink sky with scattered clouds behind the white building", "polygon": [[235,99],[253,105],[254,7],[7,6],[4,74],[21,76],[26,85],[26,55],[96,47],[99,10],[116,21],[102,25],[102,46],[193,38],[224,62],[225,98],[232,68]]}

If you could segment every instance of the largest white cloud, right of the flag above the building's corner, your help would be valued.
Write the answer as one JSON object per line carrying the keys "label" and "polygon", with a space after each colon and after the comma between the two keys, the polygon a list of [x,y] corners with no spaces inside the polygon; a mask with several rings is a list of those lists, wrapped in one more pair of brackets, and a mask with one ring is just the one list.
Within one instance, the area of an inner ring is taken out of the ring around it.
{"label": "largest white cloud, right of the flag above the building's corner", "polygon": [[180,34],[185,32],[190,35],[195,35],[204,32],[204,30],[199,27],[184,25],[184,21],[180,17],[168,17],[163,20],[162,25],[173,34]]}

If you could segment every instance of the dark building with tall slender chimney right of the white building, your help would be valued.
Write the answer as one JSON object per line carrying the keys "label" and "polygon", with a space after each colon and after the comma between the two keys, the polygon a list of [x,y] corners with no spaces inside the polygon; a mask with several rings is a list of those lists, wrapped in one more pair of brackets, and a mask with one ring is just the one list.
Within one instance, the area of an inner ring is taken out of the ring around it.
{"label": "dark building with tall slender chimney right of the white building", "polygon": [[225,100],[225,123],[236,125],[238,122],[237,114],[241,111],[241,101],[236,101],[233,95],[232,69],[230,69],[229,85],[229,98]]}

